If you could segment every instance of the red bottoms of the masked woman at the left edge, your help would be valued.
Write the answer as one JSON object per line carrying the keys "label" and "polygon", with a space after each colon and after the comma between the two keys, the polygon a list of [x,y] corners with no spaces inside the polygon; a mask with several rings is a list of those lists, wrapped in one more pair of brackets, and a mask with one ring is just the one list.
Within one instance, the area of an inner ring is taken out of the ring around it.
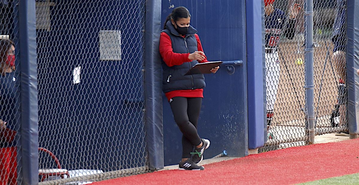
{"label": "red bottoms of the masked woman at the left edge", "polygon": [[0,148],[0,185],[17,184],[16,147]]}

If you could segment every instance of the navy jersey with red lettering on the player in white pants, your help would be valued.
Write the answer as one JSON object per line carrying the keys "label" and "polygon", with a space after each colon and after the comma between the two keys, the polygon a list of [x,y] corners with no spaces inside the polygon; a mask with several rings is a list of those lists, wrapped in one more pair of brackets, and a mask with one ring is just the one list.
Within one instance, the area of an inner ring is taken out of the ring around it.
{"label": "navy jersey with red lettering on the player in white pants", "polygon": [[284,11],[275,8],[269,15],[265,15],[265,39],[266,48],[277,47],[280,36],[283,33],[285,37],[292,40],[295,33],[295,19],[287,19]]}

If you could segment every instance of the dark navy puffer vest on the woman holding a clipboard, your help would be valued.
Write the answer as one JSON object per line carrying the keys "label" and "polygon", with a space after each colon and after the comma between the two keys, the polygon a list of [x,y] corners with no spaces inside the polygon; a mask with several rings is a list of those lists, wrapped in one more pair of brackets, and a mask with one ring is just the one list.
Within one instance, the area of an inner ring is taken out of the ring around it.
{"label": "dark navy puffer vest on the woman holding a clipboard", "polygon": [[[193,53],[198,50],[197,40],[195,34],[197,30],[190,26],[188,27],[186,37],[183,38],[174,29],[171,21],[166,23],[166,28],[162,32],[169,35],[172,42],[172,49],[175,53]],[[175,65],[168,67],[167,64],[162,60],[162,90],[163,92],[170,92],[175,90],[186,90],[186,89],[201,89],[206,87],[203,74],[186,75],[187,71],[192,66],[198,63],[197,60],[192,62],[185,62],[182,65]]]}

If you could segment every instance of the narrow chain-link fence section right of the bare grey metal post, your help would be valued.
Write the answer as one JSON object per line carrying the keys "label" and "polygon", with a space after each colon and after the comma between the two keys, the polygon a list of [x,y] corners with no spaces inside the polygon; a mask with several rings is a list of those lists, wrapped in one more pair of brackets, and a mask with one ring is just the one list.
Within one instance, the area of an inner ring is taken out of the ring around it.
{"label": "narrow chain-link fence section right of the bare grey metal post", "polygon": [[346,0],[317,1],[314,24],[316,133],[347,135]]}

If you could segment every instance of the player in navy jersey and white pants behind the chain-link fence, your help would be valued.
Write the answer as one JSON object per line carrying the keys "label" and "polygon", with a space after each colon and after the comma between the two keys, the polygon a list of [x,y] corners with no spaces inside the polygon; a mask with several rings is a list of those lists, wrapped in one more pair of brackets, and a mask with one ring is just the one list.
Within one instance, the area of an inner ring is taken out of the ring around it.
{"label": "player in navy jersey and white pants behind the chain-link fence", "polygon": [[278,58],[278,43],[283,34],[292,40],[295,34],[296,17],[301,9],[299,4],[294,4],[289,11],[289,17],[285,12],[274,8],[275,0],[264,0],[265,20],[265,59],[266,59],[266,108],[267,108],[267,132],[268,139],[272,139],[269,132],[274,116],[274,104],[276,102],[280,65]]}

